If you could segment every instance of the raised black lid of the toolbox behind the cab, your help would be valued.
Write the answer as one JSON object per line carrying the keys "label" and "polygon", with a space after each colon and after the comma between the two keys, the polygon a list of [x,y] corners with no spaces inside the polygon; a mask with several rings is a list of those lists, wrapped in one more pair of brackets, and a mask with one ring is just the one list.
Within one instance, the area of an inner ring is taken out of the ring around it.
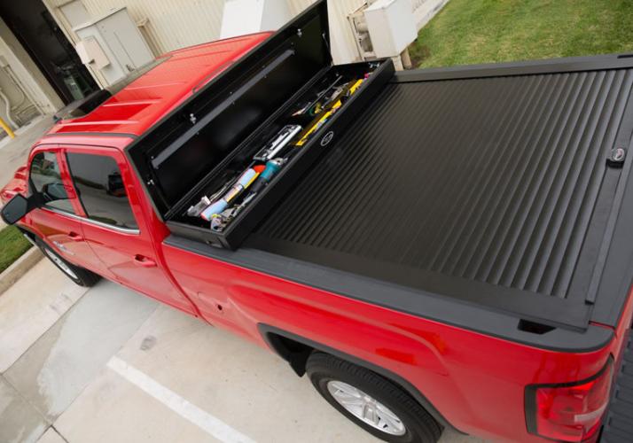
{"label": "raised black lid of the toolbox behind the cab", "polygon": [[270,114],[330,66],[327,1],[319,0],[130,144],[129,159],[158,213],[168,219]]}

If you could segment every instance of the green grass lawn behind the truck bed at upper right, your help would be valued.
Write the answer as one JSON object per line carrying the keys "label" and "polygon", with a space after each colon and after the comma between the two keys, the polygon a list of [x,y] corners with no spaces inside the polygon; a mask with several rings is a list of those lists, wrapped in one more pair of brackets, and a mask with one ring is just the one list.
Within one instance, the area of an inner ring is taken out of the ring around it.
{"label": "green grass lawn behind the truck bed at upper right", "polygon": [[414,65],[633,51],[633,0],[450,0],[410,47]]}

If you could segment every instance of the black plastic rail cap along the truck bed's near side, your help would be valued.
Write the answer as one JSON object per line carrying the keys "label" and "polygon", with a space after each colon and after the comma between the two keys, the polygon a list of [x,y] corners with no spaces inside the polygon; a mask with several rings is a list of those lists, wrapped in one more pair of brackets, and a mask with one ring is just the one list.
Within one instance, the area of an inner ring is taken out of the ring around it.
{"label": "black plastic rail cap along the truck bed's near side", "polygon": [[240,268],[277,276],[350,299],[522,345],[556,352],[584,353],[607,346],[613,338],[613,330],[593,324],[588,325],[583,331],[557,328],[544,334],[534,334],[518,328],[520,315],[511,315],[478,303],[452,299],[434,292],[418,291],[256,249],[245,247],[229,251],[174,235],[167,237],[163,244],[211,260],[231,263]]}

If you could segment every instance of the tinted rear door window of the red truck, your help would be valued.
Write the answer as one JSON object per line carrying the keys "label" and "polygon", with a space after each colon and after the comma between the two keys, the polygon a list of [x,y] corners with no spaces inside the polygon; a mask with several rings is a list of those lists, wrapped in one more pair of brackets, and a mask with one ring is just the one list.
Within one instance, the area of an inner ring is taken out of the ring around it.
{"label": "tinted rear door window of the red truck", "polygon": [[121,170],[112,157],[68,152],[68,167],[88,218],[137,229]]}

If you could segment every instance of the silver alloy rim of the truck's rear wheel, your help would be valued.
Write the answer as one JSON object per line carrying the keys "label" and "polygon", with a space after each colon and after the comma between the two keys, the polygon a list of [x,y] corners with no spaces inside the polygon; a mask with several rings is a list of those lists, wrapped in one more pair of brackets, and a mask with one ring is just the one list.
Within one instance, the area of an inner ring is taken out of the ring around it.
{"label": "silver alloy rim of the truck's rear wheel", "polygon": [[339,380],[327,383],[327,390],[340,406],[363,423],[389,435],[404,435],[407,431],[402,420],[379,400],[360,389]]}

